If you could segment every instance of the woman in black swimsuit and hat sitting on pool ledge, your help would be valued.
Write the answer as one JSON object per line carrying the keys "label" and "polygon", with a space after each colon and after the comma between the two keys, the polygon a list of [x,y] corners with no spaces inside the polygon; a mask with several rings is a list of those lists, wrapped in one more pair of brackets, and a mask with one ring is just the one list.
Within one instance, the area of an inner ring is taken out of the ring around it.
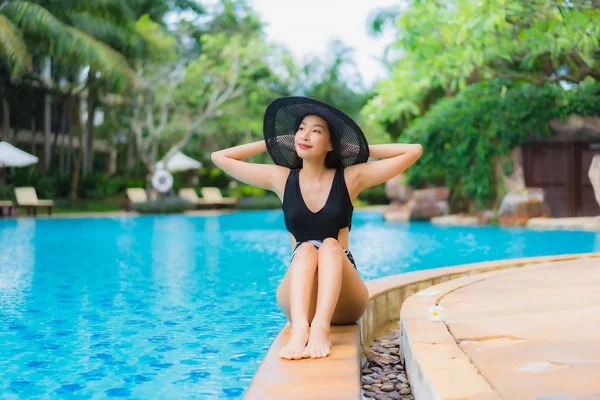
{"label": "woman in black swimsuit and hat sitting on pool ledge", "polygon": [[[306,97],[282,97],[267,107],[264,137],[212,153],[238,181],[273,191],[282,200],[292,235],[290,266],[277,301],[292,324],[280,357],[326,357],[329,329],[363,314],[368,291],[348,249],[352,203],[358,194],[406,170],[420,144],[367,144],[340,110]],[[267,150],[275,165],[245,162]],[[381,158],[368,161],[369,156]]]}

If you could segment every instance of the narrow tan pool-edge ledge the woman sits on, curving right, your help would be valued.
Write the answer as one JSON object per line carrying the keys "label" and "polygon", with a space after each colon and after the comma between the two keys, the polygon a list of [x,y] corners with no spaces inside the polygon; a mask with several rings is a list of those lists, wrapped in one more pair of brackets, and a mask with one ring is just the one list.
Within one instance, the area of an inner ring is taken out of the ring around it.
{"label": "narrow tan pool-edge ledge the woman sits on, curving right", "polygon": [[[284,343],[285,337],[289,335],[290,324],[288,322],[270,345],[244,394],[244,399],[279,399],[282,390],[289,394],[286,399],[290,400],[323,398],[324,393],[328,399],[361,399],[360,369],[361,363],[364,361],[362,345],[372,343],[379,334],[388,333],[391,326],[395,325],[396,328],[400,328],[402,303],[408,297],[430,286],[462,276],[587,258],[600,258],[600,252],[483,261],[411,271],[368,280],[365,282],[369,289],[367,309],[357,324],[332,327],[330,336],[333,347],[330,357],[318,360],[281,360],[277,353]],[[343,352],[336,353],[336,346],[343,346]],[[403,361],[403,354],[407,350],[403,350],[401,345]],[[314,379],[315,376],[321,377],[324,372],[327,373],[326,378],[329,379],[330,385]],[[331,381],[331,378],[334,381]],[[411,380],[411,384],[413,380]],[[433,393],[431,389],[431,387],[418,388],[421,393],[423,390]],[[324,392],[324,390],[329,390],[329,392]],[[334,390],[336,392],[331,393]]]}

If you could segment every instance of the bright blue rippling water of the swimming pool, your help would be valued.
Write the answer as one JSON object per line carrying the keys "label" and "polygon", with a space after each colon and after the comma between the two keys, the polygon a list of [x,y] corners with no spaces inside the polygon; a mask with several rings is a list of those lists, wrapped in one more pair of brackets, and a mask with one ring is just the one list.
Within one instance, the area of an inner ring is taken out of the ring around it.
{"label": "bright blue rippling water of the swimming pool", "polygon": [[[356,212],[364,279],[600,250],[600,233],[386,223]],[[0,220],[1,398],[241,398],[285,322],[280,211]]]}

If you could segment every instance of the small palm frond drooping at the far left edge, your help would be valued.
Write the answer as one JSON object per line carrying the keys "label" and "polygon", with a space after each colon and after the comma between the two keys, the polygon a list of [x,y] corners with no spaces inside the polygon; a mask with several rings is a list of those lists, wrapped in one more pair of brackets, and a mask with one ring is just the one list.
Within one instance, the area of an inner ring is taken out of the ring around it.
{"label": "small palm frond drooping at the far left edge", "polygon": [[0,14],[0,59],[8,66],[13,77],[31,69],[31,56],[19,28]]}

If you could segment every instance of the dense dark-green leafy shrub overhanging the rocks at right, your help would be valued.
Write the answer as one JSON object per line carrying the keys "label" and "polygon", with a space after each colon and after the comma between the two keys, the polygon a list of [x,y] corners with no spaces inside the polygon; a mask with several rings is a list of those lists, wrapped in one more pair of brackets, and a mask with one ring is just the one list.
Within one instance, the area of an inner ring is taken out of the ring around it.
{"label": "dense dark-green leafy shrub overhanging the rocks at right", "polygon": [[[478,209],[492,207],[497,192],[494,161],[529,140],[552,136],[548,121],[570,114],[598,116],[600,84],[565,90],[495,79],[440,99],[404,130],[399,141],[420,143],[423,156],[406,176],[412,187],[442,182],[452,198]],[[508,172],[508,171],[506,171]],[[454,202],[454,200],[452,200]],[[466,202],[465,202],[466,203]]]}

